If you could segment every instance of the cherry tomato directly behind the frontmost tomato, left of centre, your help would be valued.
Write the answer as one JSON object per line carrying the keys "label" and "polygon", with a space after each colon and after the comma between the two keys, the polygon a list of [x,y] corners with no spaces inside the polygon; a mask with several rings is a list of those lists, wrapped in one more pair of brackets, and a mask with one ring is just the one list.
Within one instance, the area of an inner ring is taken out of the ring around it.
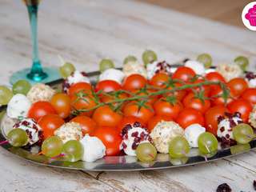
{"label": "cherry tomato directly behind the frontmost tomato, left of centre", "polygon": [[118,126],[122,120],[122,114],[111,110],[110,106],[101,106],[94,111],[94,121],[98,126]]}

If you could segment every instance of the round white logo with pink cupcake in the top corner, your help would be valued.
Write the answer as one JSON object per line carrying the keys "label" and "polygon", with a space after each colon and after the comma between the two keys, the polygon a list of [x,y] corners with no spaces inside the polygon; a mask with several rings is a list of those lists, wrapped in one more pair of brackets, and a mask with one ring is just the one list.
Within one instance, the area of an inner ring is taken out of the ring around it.
{"label": "round white logo with pink cupcake in the top corner", "polygon": [[256,30],[256,2],[250,2],[242,10],[242,22],[249,30]]}

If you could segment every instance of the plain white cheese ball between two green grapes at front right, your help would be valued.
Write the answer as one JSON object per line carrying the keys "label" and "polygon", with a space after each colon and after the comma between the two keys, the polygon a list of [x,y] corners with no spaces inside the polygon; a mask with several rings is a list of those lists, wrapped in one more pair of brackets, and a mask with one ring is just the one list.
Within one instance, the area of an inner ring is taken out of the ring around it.
{"label": "plain white cheese ball between two green grapes at front right", "polygon": [[185,138],[191,147],[198,147],[198,138],[204,132],[206,132],[206,128],[195,123],[186,127]]}

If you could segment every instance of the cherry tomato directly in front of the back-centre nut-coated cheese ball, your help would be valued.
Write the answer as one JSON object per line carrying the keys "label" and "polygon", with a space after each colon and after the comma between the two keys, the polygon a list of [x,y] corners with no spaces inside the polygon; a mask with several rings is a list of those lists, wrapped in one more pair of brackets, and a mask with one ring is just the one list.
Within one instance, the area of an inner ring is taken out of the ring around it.
{"label": "cherry tomato directly in front of the back-centre nut-coated cheese ball", "polygon": [[146,86],[146,78],[140,74],[131,74],[125,78],[122,88],[124,90],[139,90]]}

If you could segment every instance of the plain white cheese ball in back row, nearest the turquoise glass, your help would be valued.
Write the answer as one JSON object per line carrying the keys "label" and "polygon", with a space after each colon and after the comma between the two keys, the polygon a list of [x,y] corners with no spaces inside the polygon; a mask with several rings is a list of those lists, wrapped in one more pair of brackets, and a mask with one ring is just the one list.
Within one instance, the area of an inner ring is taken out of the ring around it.
{"label": "plain white cheese ball in back row, nearest the turquoise glass", "polygon": [[104,70],[102,74],[99,75],[99,81],[113,80],[115,82],[118,82],[119,84],[122,84],[122,79],[125,76],[126,75],[122,72],[122,70],[108,69]]}

